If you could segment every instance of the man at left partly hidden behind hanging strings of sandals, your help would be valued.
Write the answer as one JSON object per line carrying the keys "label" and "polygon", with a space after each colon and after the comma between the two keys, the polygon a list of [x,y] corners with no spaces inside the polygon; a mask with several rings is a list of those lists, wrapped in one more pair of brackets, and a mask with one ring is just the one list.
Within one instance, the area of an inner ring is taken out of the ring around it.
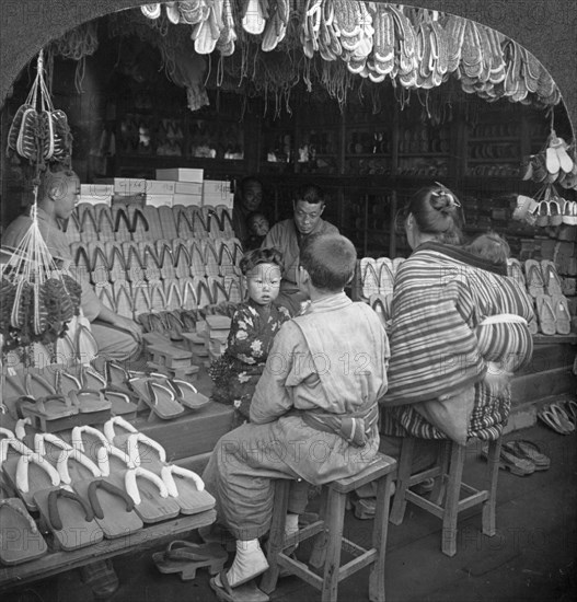
{"label": "man at left partly hidden behind hanging strings of sandals", "polygon": [[[77,174],[61,165],[44,172],[38,188],[38,228],[55,261],[68,265],[73,264],[69,242],[57,220],[66,220],[72,215],[79,192],[80,181]],[[18,247],[31,223],[28,216],[18,217],[3,233],[2,244]],[[74,265],[70,265],[72,277],[76,276],[74,268]],[[139,349],[140,326],[105,308],[92,286],[83,278],[77,279],[82,286],[82,312],[92,322],[91,329],[99,345],[99,356],[116,361],[130,359]]]}

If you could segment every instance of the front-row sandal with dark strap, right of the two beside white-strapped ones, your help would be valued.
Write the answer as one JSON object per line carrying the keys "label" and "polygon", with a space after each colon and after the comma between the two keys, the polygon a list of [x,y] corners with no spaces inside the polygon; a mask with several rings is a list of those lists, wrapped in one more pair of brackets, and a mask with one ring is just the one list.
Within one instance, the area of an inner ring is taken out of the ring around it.
{"label": "front-row sandal with dark strap, right of the two beside white-strapped ones", "polygon": [[123,537],[142,529],[132,498],[104,478],[74,483],[77,494],[89,500],[94,520],[107,540]]}

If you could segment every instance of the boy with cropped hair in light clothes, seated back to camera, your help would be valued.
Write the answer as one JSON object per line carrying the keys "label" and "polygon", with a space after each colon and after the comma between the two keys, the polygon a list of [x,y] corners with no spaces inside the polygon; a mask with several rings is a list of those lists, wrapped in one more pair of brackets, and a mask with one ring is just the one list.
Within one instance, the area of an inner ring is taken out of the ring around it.
{"label": "boy with cropped hair in light clothes, seated back to camera", "polygon": [[[219,520],[236,539],[231,568],[211,580],[217,593],[268,568],[258,537],[270,526],[275,479],[322,485],[357,474],[378,451],[389,343],[371,308],[344,292],[356,259],[353,243],[339,234],[307,240],[297,279],[311,305],[280,327],[251,422],[219,440],[205,470]],[[305,502],[289,501],[286,533],[297,530]]]}

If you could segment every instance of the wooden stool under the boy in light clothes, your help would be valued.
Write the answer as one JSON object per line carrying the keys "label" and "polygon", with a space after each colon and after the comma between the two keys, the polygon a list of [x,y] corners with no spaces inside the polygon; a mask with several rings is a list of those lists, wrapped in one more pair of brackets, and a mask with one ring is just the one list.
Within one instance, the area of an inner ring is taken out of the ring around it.
{"label": "wooden stool under the boy in light clothes", "polygon": [[[386,517],[389,516],[389,499],[395,467],[395,460],[378,453],[359,474],[326,484],[327,498],[322,505],[320,520],[299,530],[298,533],[289,537],[285,537],[285,519],[291,482],[288,479],[277,481],[267,552],[269,569],[263,576],[261,590],[266,593],[274,591],[279,570],[282,568],[290,575],[296,575],[307,583],[321,590],[323,602],[336,602],[338,582],[350,577],[357,570],[371,565],[369,599],[371,602],[384,602]],[[343,523],[347,494],[372,482],[377,482],[377,513],[372,530],[372,547],[366,549],[343,537]],[[285,552],[287,548],[295,546],[297,542],[302,542],[314,535],[316,535],[316,540],[309,565],[319,569],[319,571],[311,570],[304,563],[291,558]],[[342,547],[355,556],[353,560],[344,566],[341,566]]]}

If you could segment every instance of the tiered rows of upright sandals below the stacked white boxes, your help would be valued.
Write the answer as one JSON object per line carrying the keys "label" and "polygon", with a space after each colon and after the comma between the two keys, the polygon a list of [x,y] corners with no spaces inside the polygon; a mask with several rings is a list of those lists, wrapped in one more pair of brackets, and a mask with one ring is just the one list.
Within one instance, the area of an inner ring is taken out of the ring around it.
{"label": "tiered rows of upright sandals below the stacked white boxes", "polygon": [[161,314],[166,331],[183,329],[182,311],[243,300],[242,246],[223,206],[81,204],[66,233],[77,278],[91,282],[111,310],[145,328],[147,316]]}

